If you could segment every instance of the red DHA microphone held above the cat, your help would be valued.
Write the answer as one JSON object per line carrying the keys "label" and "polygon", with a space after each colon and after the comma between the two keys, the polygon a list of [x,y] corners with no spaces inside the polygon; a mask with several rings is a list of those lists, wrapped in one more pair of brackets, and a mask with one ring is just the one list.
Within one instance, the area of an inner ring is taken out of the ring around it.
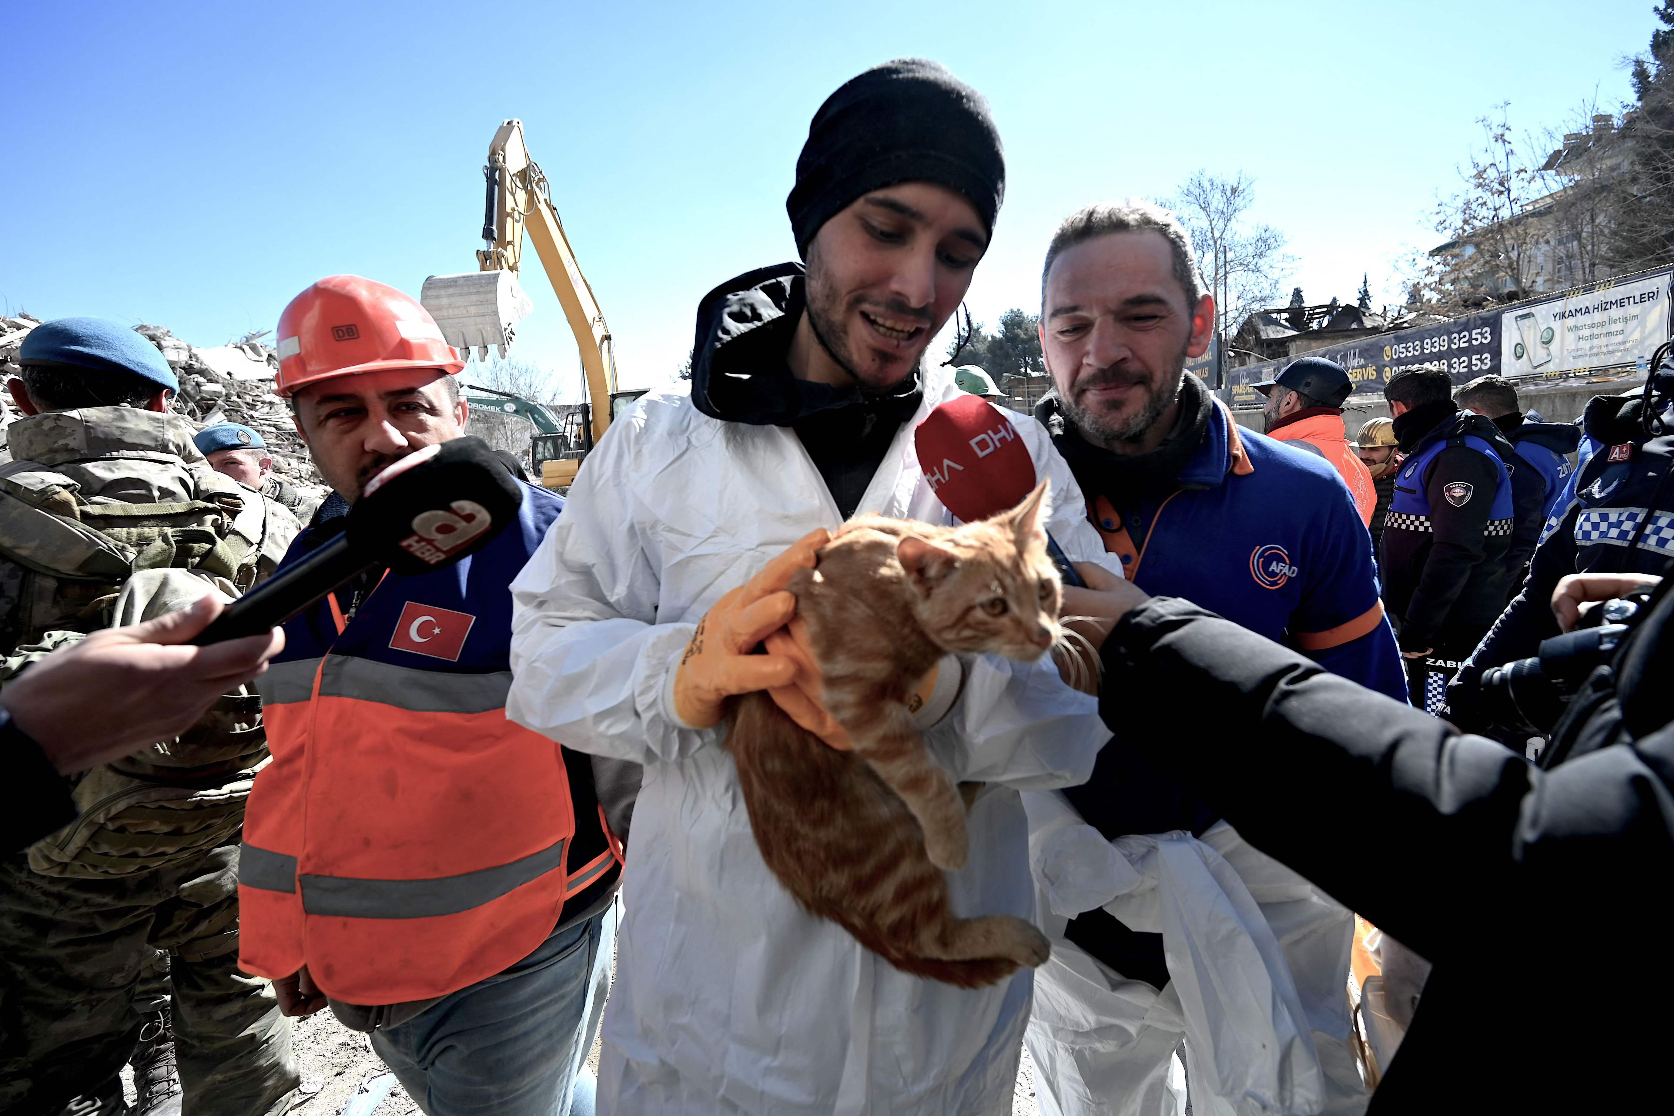
{"label": "red DHA microphone held above the cat", "polygon": [[[932,410],[912,432],[912,445],[931,492],[968,524],[1016,507],[1040,484],[1018,428],[981,395]],[[1086,586],[1050,534],[1046,554],[1066,584]]]}

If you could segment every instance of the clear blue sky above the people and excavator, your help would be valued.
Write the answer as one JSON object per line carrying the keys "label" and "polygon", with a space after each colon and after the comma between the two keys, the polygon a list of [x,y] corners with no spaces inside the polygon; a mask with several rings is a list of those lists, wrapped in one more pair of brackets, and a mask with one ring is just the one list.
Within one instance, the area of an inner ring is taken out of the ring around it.
{"label": "clear blue sky above the people and excavator", "polygon": [[[809,117],[927,55],[981,89],[1009,181],[971,288],[1035,308],[1051,228],[1197,167],[1257,181],[1311,301],[1396,298],[1438,189],[1512,102],[1518,131],[1629,95],[1651,0],[1565,3],[49,3],[7,5],[0,311],[152,321],[194,345],[271,328],[313,279],[413,294],[470,271],[502,117],[618,340],[666,381],[696,299],[795,256]],[[527,15],[521,15],[529,12]],[[529,253],[532,259],[532,253]],[[579,395],[539,271],[519,351]]]}

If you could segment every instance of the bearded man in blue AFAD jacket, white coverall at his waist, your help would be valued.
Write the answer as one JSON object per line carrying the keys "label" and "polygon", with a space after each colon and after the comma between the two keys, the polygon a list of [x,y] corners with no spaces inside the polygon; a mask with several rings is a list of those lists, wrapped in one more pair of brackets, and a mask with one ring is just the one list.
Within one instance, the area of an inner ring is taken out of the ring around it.
{"label": "bearded man in blue AFAD jacket, white coverall at his waist", "polygon": [[[1184,371],[1185,360],[1209,346],[1214,316],[1214,298],[1172,214],[1137,201],[1076,212],[1046,251],[1040,331],[1055,392],[1036,418],[1070,462],[1093,527],[1130,581],[1147,592],[1185,597],[1404,699],[1371,539],[1343,479],[1321,457],[1240,430],[1202,381]],[[1271,1076],[1311,1089],[1322,1111],[1364,1104],[1346,1044],[1348,910],[1245,845],[1212,808],[1133,760],[1132,750],[1107,748],[1085,786],[1026,798],[1041,917],[1053,937],[1028,1032],[1041,1069],[1043,1111],[1177,1111],[1167,1078],[1184,1036],[1187,1078],[1199,1094],[1194,1104],[1205,1111],[1199,1101],[1217,1093],[1215,1067],[1224,1069],[1229,1054],[1210,1049],[1205,1029],[1225,1036],[1237,1027],[1217,1029],[1230,1016],[1217,1021],[1197,1012],[1194,1019],[1200,1001],[1182,1004],[1172,967],[1184,954],[1168,949],[1165,960],[1155,907],[1147,914],[1142,905],[1122,905],[1145,893],[1160,895],[1167,909],[1197,892],[1175,878],[1153,890],[1135,878],[1117,890],[1115,883],[1080,893],[1065,887],[1080,877],[1076,868],[1108,858],[1112,848],[1132,862],[1130,877],[1150,878],[1155,860],[1145,855],[1163,855],[1184,840],[1192,842],[1187,858],[1215,875],[1220,909],[1259,905],[1259,915],[1239,927],[1240,944],[1210,940],[1200,955],[1210,967],[1237,969],[1234,987],[1274,989],[1271,1002],[1292,1006],[1286,1026],[1301,1034],[1297,1049],[1309,1046],[1309,1034],[1317,1049],[1317,1061],[1309,1051],[1301,1066],[1274,1067]],[[1058,817],[1063,801],[1080,815],[1075,825]],[[1086,857],[1053,865],[1055,850],[1070,848],[1071,840],[1083,842]],[[1239,960],[1257,954],[1266,964]],[[1289,999],[1281,996],[1287,987]]]}

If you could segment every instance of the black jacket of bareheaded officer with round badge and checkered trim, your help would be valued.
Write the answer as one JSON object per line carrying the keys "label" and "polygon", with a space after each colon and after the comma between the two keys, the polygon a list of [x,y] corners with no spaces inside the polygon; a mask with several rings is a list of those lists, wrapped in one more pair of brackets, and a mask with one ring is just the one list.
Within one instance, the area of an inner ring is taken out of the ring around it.
{"label": "black jacket of bareheaded officer with round badge and checkered trim", "polygon": [[[1408,460],[1423,455],[1438,440],[1465,435],[1498,442],[1510,455],[1510,443],[1492,418],[1455,410],[1451,403],[1448,410],[1428,415],[1425,408],[1415,408],[1394,423]],[[1430,522],[1423,530],[1403,529],[1393,514],[1383,529],[1379,571],[1384,602],[1399,619],[1401,651],[1426,651],[1453,639],[1475,642],[1512,596],[1505,561],[1510,534],[1488,529],[1500,463],[1468,445],[1448,445],[1436,453],[1425,475],[1408,477],[1404,465],[1396,474],[1396,492],[1423,484],[1430,497]],[[1455,505],[1445,495],[1455,484],[1470,485],[1487,499]]]}

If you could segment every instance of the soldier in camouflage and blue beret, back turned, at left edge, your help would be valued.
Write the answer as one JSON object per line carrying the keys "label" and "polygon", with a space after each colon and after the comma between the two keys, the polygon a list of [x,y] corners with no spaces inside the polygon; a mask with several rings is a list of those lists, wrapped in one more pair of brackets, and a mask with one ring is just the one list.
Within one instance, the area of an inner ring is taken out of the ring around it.
{"label": "soldier in camouflage and blue beret, back turned, at left edge", "polygon": [[[146,338],[67,318],[37,326],[18,363],[7,387],[23,418],[0,465],[0,686],[85,632],[206,591],[229,599],[273,569],[295,519],[209,468]],[[117,1074],[142,1032],[139,1111],[288,1108],[290,1022],[236,965],[238,840],[266,758],[259,699],[241,688],[186,735],[80,776],[80,817],[0,860],[0,1111],[50,1116],[77,1096],[80,1113],[126,1111]],[[156,950],[172,1017],[137,1011]]]}

